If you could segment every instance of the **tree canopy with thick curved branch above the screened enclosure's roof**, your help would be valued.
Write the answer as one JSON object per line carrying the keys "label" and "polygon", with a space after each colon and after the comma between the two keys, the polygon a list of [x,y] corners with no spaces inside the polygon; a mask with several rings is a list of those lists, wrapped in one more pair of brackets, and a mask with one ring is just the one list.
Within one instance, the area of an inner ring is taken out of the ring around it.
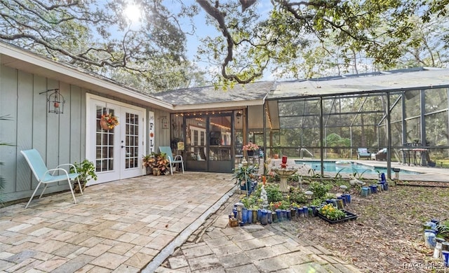
{"label": "tree canopy with thick curved branch above the screened enclosure's roof", "polygon": [[[298,78],[316,76],[313,66],[334,74],[352,66],[357,73],[359,60],[377,70],[449,63],[448,0],[272,0],[265,20],[254,14],[257,3],[239,10],[254,1],[197,2],[222,32],[201,53],[220,60],[225,81],[248,83],[269,66]],[[427,27],[435,22],[439,30]]]}

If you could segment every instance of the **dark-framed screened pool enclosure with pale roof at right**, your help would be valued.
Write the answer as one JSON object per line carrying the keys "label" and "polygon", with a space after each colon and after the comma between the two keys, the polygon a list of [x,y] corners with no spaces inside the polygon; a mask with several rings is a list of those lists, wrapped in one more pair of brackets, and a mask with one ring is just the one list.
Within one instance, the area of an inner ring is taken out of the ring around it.
{"label": "dark-framed screened pool enclosure with pale roof at right", "polygon": [[279,83],[249,139],[267,156],[449,168],[449,73],[418,70]]}

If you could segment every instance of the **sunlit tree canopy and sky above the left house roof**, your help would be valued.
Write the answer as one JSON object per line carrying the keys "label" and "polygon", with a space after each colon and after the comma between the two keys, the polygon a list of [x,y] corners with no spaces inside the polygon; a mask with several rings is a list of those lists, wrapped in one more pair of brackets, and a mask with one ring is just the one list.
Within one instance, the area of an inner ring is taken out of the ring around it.
{"label": "sunlit tree canopy and sky above the left house roof", "polygon": [[177,14],[145,1],[133,25],[126,8],[122,0],[1,0],[0,39],[138,88],[185,87],[194,68]]}

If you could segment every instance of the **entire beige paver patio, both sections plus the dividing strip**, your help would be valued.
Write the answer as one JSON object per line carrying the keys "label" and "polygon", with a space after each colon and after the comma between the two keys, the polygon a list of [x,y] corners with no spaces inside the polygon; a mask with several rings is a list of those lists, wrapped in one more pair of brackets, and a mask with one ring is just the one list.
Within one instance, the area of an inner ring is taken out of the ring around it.
{"label": "entire beige paver patio, both sections plus the dividing strip", "polygon": [[281,223],[227,227],[229,174],[141,176],[0,209],[1,272],[359,272]]}

